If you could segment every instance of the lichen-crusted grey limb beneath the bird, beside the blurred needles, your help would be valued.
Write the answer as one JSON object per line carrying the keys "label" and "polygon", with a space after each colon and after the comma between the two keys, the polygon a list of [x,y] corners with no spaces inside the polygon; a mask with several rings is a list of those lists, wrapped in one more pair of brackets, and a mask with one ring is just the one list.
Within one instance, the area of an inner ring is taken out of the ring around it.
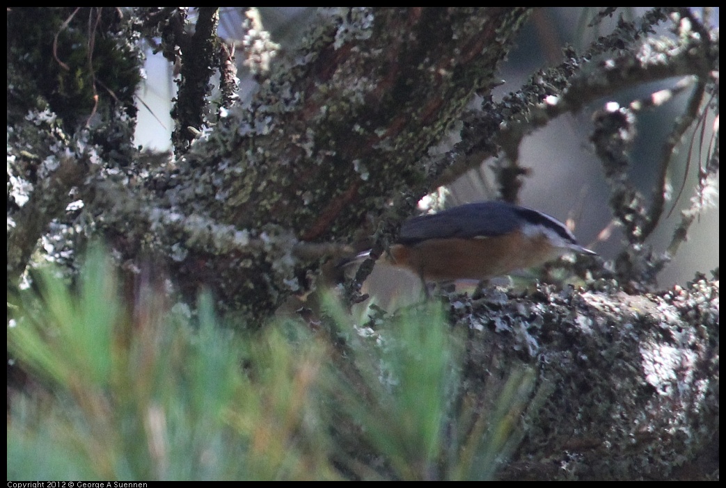
{"label": "lichen-crusted grey limb beneath the bird, beside the blurred needles", "polygon": [[545,286],[502,294],[452,295],[452,320],[474,334],[468,388],[478,391],[482,365],[492,363],[497,371],[536,363],[550,385],[518,458],[560,469],[534,463],[532,474],[669,479],[707,455],[718,422],[717,281],[648,296]]}

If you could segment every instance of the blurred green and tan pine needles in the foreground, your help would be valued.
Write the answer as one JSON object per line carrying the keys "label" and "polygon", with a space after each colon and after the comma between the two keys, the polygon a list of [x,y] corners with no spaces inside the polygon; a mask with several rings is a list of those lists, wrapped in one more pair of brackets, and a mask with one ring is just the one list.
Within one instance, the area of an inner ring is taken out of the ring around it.
{"label": "blurred green and tan pine needles in the foreground", "polygon": [[9,303],[8,479],[488,479],[521,438],[534,373],[484,408],[438,306],[240,332],[205,294],[123,305],[99,249],[58,276]]}

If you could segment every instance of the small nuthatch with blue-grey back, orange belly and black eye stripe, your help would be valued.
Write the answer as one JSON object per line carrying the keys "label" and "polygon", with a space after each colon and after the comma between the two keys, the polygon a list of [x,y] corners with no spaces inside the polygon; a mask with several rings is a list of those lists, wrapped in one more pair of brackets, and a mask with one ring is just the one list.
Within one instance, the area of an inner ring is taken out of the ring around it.
{"label": "small nuthatch with blue-grey back, orange belly and black eye stripe", "polygon": [[428,281],[484,280],[566,252],[597,254],[550,215],[505,202],[478,202],[407,220],[388,261]]}

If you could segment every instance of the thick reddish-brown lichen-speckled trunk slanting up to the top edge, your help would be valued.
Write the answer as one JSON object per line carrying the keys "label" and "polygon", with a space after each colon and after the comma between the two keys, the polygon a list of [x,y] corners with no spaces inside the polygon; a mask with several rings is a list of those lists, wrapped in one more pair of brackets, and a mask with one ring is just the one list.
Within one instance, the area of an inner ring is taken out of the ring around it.
{"label": "thick reddish-brown lichen-speckled trunk slanting up to the top edge", "polygon": [[[291,62],[273,65],[251,109],[232,110],[153,186],[165,188],[166,201],[182,214],[207,215],[252,236],[272,224],[301,241],[349,239],[388,197],[428,189],[415,162],[474,91],[494,85],[526,14],[329,12]],[[188,250],[176,267],[180,282],[191,282],[189,272],[200,276],[201,266],[203,276],[214,277],[206,285],[219,293],[220,305],[262,315],[290,293],[290,283],[306,288],[298,277],[317,267],[300,263],[270,275],[271,255]]]}

